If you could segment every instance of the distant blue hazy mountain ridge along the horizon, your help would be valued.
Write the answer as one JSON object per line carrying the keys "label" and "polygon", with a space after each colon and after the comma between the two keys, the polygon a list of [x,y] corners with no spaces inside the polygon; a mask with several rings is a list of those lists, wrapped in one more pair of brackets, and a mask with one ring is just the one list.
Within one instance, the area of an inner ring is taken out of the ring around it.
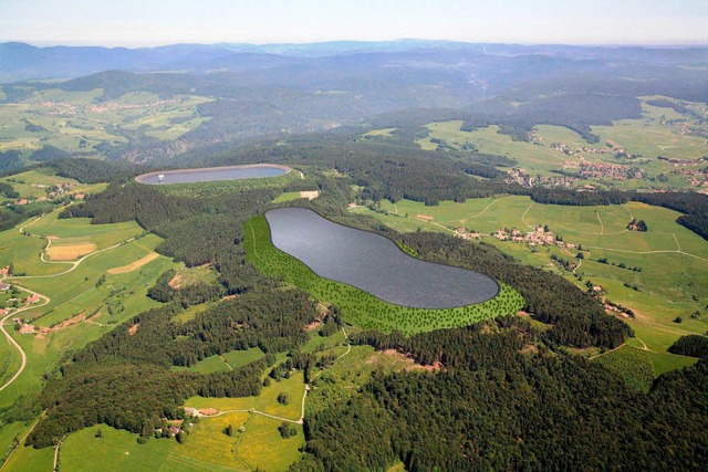
{"label": "distant blue hazy mountain ridge along the horizon", "polygon": [[[435,40],[335,41],[310,44],[173,44],[156,48],[46,46],[0,43],[0,83],[75,78],[111,70],[126,72],[246,72],[283,65],[316,64],[327,57],[431,54],[465,61],[480,56],[544,55],[572,60],[631,61],[657,66],[708,66],[708,46],[638,48],[475,44]],[[435,57],[434,57],[435,59]],[[434,61],[435,62],[435,61]]]}

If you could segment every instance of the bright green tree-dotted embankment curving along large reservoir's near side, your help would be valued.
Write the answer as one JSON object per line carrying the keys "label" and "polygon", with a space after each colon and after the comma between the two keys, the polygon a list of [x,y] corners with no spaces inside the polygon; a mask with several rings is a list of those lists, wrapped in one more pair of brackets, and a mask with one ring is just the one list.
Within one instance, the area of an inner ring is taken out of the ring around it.
{"label": "bright green tree-dotted embankment curving along large reservoir's near side", "polygon": [[295,258],[275,249],[270,242],[270,230],[263,216],[247,223],[244,247],[249,262],[260,271],[268,275],[283,276],[285,281],[309,291],[324,304],[336,304],[344,318],[361,328],[420,333],[467,326],[497,315],[513,314],[523,305],[521,295],[503,284],[500,284],[500,292],[493,298],[457,308],[423,310],[383,302],[351,285],[320,277]]}

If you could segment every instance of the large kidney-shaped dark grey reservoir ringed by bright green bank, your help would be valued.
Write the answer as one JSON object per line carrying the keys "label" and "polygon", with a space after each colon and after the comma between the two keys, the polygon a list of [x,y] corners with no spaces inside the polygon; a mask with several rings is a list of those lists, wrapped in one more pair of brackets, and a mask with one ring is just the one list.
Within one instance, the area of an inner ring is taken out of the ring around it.
{"label": "large kidney-shaped dark grey reservoir ringed by bright green bank", "polygon": [[266,212],[273,245],[317,275],[396,305],[450,308],[481,303],[499,286],[480,273],[420,261],[387,238],[355,230],[304,208]]}

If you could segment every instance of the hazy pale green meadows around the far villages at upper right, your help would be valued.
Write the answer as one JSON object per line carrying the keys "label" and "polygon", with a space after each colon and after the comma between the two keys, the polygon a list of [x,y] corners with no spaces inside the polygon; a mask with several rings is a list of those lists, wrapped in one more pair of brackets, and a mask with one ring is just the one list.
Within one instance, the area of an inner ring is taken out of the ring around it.
{"label": "hazy pale green meadows around the far villages at upper right", "polygon": [[[646,101],[656,97],[644,97],[642,102],[643,116],[638,119],[623,119],[613,123],[612,126],[594,126],[592,132],[600,137],[600,141],[590,145],[577,133],[563,127],[550,125],[537,125],[533,128],[532,140],[514,141],[510,136],[499,133],[496,125],[464,132],[460,129],[462,122],[439,122],[427,125],[428,136],[416,143],[426,150],[438,147],[439,140],[444,146],[452,149],[462,149],[473,145],[480,153],[507,156],[518,161],[518,167],[530,175],[552,176],[551,171],[561,169],[566,161],[580,164],[580,159],[568,156],[560,149],[551,147],[559,143],[575,151],[583,147],[605,149],[604,154],[579,150],[580,156],[586,161],[621,164],[636,166],[644,170],[647,178],[632,180],[587,179],[579,185],[593,183],[601,187],[658,188],[689,186],[686,178],[673,176],[670,164],[657,160],[658,156],[676,159],[696,159],[708,154],[708,141],[699,136],[690,136],[685,133],[684,124],[691,128],[700,128],[689,115],[681,115],[671,108],[659,108],[647,105]],[[698,104],[686,103],[687,106]],[[675,122],[670,122],[675,120]],[[377,129],[367,135],[386,135],[387,129]],[[610,147],[612,145],[612,147]],[[617,159],[615,149],[624,149],[628,154],[639,156],[633,160]],[[694,166],[698,169],[700,166]],[[654,177],[665,174],[666,182],[656,182]]]}

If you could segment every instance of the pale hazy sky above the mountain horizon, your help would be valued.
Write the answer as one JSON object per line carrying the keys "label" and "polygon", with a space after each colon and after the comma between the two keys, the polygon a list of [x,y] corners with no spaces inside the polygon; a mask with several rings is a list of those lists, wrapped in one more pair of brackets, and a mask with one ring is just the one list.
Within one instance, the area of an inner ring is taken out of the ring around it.
{"label": "pale hazy sky above the mountain horizon", "polygon": [[708,44],[708,0],[0,0],[0,41]]}

